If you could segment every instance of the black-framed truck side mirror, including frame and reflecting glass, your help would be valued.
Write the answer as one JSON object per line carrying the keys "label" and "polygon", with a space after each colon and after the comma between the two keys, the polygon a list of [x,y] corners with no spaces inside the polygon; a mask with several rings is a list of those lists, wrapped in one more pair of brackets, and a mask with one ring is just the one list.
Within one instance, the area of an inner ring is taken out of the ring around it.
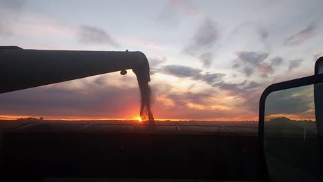
{"label": "black-framed truck side mirror, including frame and reflecting glass", "polygon": [[267,181],[322,181],[323,59],[315,75],[264,90],[259,136]]}

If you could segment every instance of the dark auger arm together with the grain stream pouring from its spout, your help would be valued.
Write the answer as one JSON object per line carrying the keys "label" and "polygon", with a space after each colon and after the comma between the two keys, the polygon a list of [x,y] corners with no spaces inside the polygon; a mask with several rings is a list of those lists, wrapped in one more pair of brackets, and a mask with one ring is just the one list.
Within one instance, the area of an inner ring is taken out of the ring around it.
{"label": "dark auger arm together with the grain stream pouring from its spout", "polygon": [[141,94],[140,116],[155,125],[150,110],[150,68],[145,54],[117,51],[24,50],[0,47],[0,93],[132,69]]}

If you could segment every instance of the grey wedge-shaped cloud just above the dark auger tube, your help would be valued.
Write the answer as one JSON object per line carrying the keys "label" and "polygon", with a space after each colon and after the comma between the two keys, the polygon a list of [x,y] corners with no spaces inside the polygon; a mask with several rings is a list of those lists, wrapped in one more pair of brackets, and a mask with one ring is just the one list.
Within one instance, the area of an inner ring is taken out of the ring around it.
{"label": "grey wedge-shaped cloud just above the dark auger tube", "polygon": [[119,47],[119,43],[112,39],[110,34],[93,26],[79,26],[78,37],[81,43],[108,44]]}

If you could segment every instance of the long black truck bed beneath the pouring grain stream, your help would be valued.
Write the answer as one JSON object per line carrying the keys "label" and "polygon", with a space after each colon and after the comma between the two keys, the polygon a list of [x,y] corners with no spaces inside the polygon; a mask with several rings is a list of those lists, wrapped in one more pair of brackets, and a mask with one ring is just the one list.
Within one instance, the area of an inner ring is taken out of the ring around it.
{"label": "long black truck bed beneath the pouring grain stream", "polygon": [[[208,132],[186,130],[206,128],[206,125],[157,124],[155,131],[146,126],[126,123],[21,125],[4,132],[5,172],[8,177],[39,179],[260,179],[255,132],[234,133],[222,125],[208,127]],[[108,130],[120,127],[122,132]],[[222,129],[211,132],[211,128]]]}

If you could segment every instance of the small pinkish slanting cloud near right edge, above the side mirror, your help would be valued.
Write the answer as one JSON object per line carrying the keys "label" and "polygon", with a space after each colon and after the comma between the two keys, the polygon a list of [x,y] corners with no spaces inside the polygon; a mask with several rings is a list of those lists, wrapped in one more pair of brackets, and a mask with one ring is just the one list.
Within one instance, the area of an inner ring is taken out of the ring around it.
{"label": "small pinkish slanting cloud near right edge, above the side mirror", "polygon": [[291,37],[285,39],[285,45],[301,45],[302,43],[304,43],[304,41],[306,41],[306,39],[313,37],[315,29],[316,26],[314,26],[313,24],[307,26],[303,30],[300,30],[296,34],[293,34],[291,35]]}

